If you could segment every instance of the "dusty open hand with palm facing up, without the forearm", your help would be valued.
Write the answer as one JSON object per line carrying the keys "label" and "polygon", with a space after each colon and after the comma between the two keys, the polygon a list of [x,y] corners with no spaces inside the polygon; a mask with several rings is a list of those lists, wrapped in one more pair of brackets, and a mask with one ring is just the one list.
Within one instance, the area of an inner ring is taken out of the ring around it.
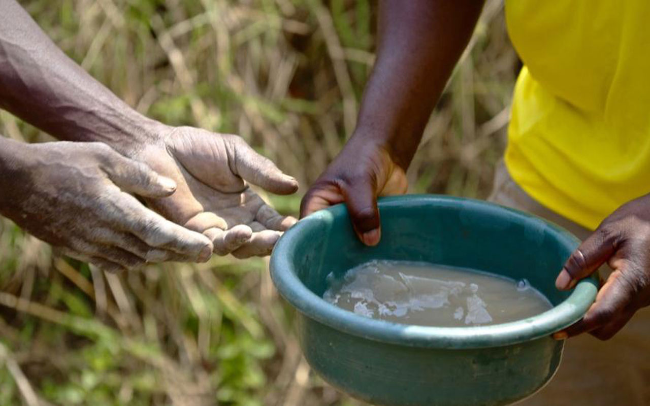
{"label": "dusty open hand with palm facing up, without the forearm", "polygon": [[157,141],[132,155],[177,183],[172,196],[146,199],[149,207],[208,236],[218,255],[268,255],[296,219],[278,214],[246,182],[275,194],[292,194],[298,189],[296,179],[239,136],[193,127],[165,128]]}

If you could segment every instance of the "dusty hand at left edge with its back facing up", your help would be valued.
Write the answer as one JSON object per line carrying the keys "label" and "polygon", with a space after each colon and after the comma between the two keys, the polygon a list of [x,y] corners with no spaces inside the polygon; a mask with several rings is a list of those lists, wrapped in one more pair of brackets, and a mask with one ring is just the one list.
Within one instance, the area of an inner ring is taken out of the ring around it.
{"label": "dusty hand at left edge with its back facing up", "polygon": [[174,192],[174,181],[149,166],[98,142],[11,147],[1,211],[66,255],[112,272],[145,262],[209,259],[208,238],[164,220],[129,194]]}

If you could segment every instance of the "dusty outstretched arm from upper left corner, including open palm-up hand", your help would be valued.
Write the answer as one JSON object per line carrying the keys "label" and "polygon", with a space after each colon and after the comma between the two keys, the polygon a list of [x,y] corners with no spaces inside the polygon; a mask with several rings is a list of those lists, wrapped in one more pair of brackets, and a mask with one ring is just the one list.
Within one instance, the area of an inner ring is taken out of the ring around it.
{"label": "dusty outstretched arm from upper left corner, including open palm-up hand", "polygon": [[174,194],[144,196],[148,206],[207,236],[219,255],[267,255],[296,221],[248,187],[291,194],[295,179],[239,136],[172,127],[136,112],[68,58],[14,0],[0,0],[0,108],[60,140],[101,142],[172,179]]}

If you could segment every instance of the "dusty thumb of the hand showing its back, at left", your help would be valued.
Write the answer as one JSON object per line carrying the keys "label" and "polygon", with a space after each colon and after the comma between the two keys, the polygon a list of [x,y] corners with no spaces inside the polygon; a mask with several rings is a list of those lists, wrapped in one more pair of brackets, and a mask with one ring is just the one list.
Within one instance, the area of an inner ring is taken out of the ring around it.
{"label": "dusty thumb of the hand showing its back, at left", "polygon": [[123,157],[117,152],[105,157],[103,170],[124,192],[143,197],[166,197],[176,190],[176,183],[159,175],[144,162]]}

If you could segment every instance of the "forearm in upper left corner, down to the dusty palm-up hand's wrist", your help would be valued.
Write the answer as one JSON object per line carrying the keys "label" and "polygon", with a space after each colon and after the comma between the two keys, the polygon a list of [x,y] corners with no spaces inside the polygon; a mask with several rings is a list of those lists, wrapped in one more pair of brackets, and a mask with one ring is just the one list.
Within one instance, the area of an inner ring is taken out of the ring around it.
{"label": "forearm in upper left corner, down to the dusty palm-up hand's wrist", "polygon": [[0,107],[62,140],[120,149],[155,133],[155,121],[68,58],[14,0],[0,1]]}

